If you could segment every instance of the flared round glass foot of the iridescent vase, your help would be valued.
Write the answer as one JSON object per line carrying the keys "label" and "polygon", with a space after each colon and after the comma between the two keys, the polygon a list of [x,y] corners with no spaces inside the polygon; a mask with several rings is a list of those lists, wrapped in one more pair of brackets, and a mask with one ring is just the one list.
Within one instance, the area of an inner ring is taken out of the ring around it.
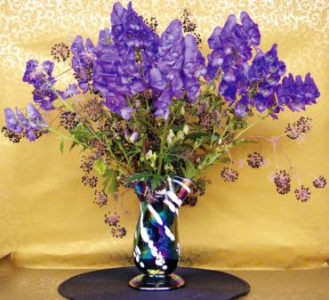
{"label": "flared round glass foot of the iridescent vase", "polygon": [[184,285],[185,280],[176,274],[170,274],[163,277],[140,274],[129,281],[129,286],[131,288],[153,291],[182,288]]}

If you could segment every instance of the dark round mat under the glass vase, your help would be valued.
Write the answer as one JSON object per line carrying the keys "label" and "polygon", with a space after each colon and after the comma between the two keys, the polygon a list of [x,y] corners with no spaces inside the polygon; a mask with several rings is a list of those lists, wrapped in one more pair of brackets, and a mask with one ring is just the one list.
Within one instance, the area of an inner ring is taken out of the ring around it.
{"label": "dark round mat under the glass vase", "polygon": [[87,272],[60,284],[61,296],[72,300],[230,300],[249,292],[245,280],[224,272],[178,268],[184,288],[170,291],[140,291],[128,281],[140,272],[135,267]]}

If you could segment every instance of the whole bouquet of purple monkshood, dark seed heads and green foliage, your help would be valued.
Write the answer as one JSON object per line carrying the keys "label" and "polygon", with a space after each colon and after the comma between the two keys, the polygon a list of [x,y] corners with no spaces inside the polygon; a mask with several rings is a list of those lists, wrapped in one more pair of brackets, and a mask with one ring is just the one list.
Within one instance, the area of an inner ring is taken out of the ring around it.
{"label": "whole bouquet of purple monkshood, dark seed heads and green foliage", "polygon": [[[116,3],[111,28],[100,30],[97,45],[82,36],[70,47],[53,45],[53,61],[68,63],[65,72],[73,72],[76,83],[62,91],[56,87],[61,74],[53,75],[54,62],[27,62],[22,80],[33,88],[34,104],[4,109],[4,135],[12,142],[34,142],[52,133],[60,136],[61,152],[80,147],[82,182],[95,189],[100,207],[119,187],[144,182],[154,195],[175,175],[193,182],[183,204],[195,206],[209,183],[205,172],[215,163],[229,164],[221,170],[224,182],[237,180],[234,166],[245,161],[234,160],[232,148],[264,140],[276,154],[282,139],[301,139],[311,129],[312,120],[301,117],[281,135],[245,137],[261,120],[277,119],[284,109],[304,110],[320,95],[309,74],[304,79],[285,75],[277,45],[263,52],[260,40],[258,25],[246,12],[240,23],[231,14],[208,38],[211,53],[205,59],[189,12],[159,34],[155,18],[144,20],[131,3],[127,9]],[[49,111],[52,120],[44,117]],[[268,160],[253,152],[246,162],[260,168]],[[271,180],[278,193],[291,190],[292,174],[292,166],[277,166]],[[313,185],[324,188],[325,178],[318,176]],[[300,183],[294,194],[307,201],[309,187]],[[125,235],[118,213],[105,215],[105,223],[113,236]]]}

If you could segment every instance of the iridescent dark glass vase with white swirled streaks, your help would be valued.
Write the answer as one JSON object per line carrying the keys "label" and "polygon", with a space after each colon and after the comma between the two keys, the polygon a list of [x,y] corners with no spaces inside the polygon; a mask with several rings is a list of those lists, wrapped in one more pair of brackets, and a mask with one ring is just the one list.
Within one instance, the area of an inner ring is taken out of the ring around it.
{"label": "iridescent dark glass vase with white swirled streaks", "polygon": [[167,179],[162,191],[151,192],[148,184],[137,182],[140,217],[133,240],[133,260],[141,274],[130,280],[132,288],[168,290],[181,288],[185,281],[173,272],[180,261],[178,215],[189,194],[189,179]]}

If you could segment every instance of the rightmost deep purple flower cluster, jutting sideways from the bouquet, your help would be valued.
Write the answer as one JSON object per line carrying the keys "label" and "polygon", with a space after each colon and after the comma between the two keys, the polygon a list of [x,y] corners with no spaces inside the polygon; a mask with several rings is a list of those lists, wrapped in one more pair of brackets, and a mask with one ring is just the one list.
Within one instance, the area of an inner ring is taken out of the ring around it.
{"label": "rightmost deep purple flower cluster, jutting sideways from the bouquet", "polygon": [[304,81],[300,75],[295,78],[293,74],[284,77],[282,84],[277,85],[276,93],[278,104],[293,111],[300,111],[305,109],[306,105],[317,103],[317,98],[320,96],[317,85],[309,73]]}

